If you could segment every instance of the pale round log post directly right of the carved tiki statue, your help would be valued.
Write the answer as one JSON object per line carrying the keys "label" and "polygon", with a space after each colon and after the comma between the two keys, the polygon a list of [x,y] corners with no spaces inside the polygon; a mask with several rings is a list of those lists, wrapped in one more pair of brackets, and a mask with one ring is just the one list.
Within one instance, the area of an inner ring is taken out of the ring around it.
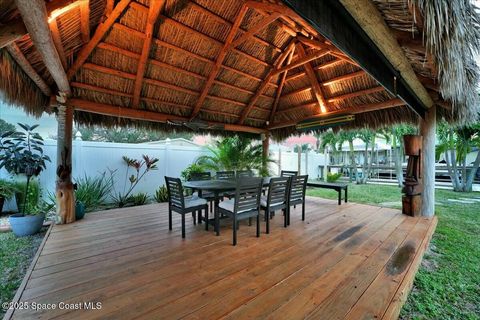
{"label": "pale round log post directly right of the carved tiki statue", "polygon": [[432,107],[425,113],[425,119],[421,120],[420,134],[423,136],[423,194],[421,214],[431,217],[435,214],[435,131],[436,131],[436,108]]}

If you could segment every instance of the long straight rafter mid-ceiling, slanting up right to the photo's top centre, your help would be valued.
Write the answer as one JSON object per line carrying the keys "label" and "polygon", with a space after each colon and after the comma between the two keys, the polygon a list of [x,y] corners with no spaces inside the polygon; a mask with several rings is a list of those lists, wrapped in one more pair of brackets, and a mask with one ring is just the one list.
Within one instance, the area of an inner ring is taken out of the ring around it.
{"label": "long straight rafter mid-ceiling, slanting up right to the photo's top centre", "polygon": [[210,88],[213,85],[213,81],[218,75],[218,72],[220,71],[220,66],[223,63],[223,59],[225,59],[228,50],[230,49],[230,45],[233,42],[233,39],[235,38],[235,35],[237,34],[238,28],[240,27],[240,24],[242,23],[243,17],[247,13],[247,7],[242,6],[240,9],[239,14],[237,15],[235,22],[233,23],[233,26],[230,28],[230,31],[227,35],[227,38],[225,40],[225,44],[223,45],[222,49],[220,50],[217,60],[215,61],[215,64],[213,65],[213,68],[208,76],[207,81],[205,81],[205,85],[203,86],[202,92],[200,93],[200,96],[198,97],[197,103],[195,104],[195,107],[193,108],[193,112],[190,116],[190,119],[195,118],[198,113],[200,112],[200,109],[202,108],[203,102],[205,101],[205,98],[208,95],[208,92],[210,91]]}

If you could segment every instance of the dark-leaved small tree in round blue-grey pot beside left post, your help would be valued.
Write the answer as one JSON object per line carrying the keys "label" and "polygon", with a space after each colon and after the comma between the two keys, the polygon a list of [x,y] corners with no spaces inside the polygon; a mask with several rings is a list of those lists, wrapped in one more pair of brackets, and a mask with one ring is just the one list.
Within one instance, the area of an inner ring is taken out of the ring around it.
{"label": "dark-leaved small tree in round blue-grey pot beside left post", "polygon": [[44,212],[38,212],[36,203],[28,203],[30,180],[37,177],[46,168],[50,158],[43,154],[43,139],[34,130],[38,125],[18,124],[22,131],[8,131],[2,134],[0,141],[0,169],[5,168],[10,174],[24,175],[27,179],[25,198],[21,212],[10,216],[12,231],[17,236],[37,233],[45,219]]}

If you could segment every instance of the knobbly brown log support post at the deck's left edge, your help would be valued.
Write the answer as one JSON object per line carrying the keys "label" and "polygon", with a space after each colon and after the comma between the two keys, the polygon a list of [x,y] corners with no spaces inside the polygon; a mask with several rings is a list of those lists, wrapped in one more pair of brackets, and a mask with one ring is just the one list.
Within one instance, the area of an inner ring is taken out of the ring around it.
{"label": "knobbly brown log support post at the deck's left edge", "polygon": [[75,222],[75,193],[72,183],[73,107],[60,103],[57,121],[57,215],[60,223],[72,223]]}

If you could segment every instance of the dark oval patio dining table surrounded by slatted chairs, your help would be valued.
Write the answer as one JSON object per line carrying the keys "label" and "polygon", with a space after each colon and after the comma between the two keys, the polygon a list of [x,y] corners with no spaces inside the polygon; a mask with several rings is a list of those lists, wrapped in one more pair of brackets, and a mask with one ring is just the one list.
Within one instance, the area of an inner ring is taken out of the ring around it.
{"label": "dark oval patio dining table surrounded by slatted chairs", "polygon": [[[264,177],[262,184],[264,187],[267,187],[270,183],[271,177]],[[220,203],[220,196],[224,192],[234,191],[237,186],[237,180],[199,180],[199,181],[187,181],[183,184],[185,188],[192,189],[193,191],[198,191],[198,196],[202,196],[202,192],[211,192],[214,195],[214,229],[217,236],[220,234],[219,222],[220,217],[218,215],[218,204]],[[208,218],[205,216],[205,230],[208,230]]]}

